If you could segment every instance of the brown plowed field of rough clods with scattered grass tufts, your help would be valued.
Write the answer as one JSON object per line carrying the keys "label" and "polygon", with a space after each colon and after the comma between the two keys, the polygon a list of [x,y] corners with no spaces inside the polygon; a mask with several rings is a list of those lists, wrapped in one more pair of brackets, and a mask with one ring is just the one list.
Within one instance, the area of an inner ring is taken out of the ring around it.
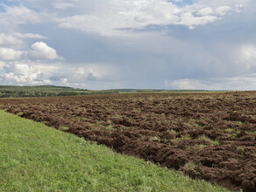
{"label": "brown plowed field of rough clods with scattered grass tufts", "polygon": [[256,92],[0,99],[7,112],[244,191],[256,191],[255,106]]}

